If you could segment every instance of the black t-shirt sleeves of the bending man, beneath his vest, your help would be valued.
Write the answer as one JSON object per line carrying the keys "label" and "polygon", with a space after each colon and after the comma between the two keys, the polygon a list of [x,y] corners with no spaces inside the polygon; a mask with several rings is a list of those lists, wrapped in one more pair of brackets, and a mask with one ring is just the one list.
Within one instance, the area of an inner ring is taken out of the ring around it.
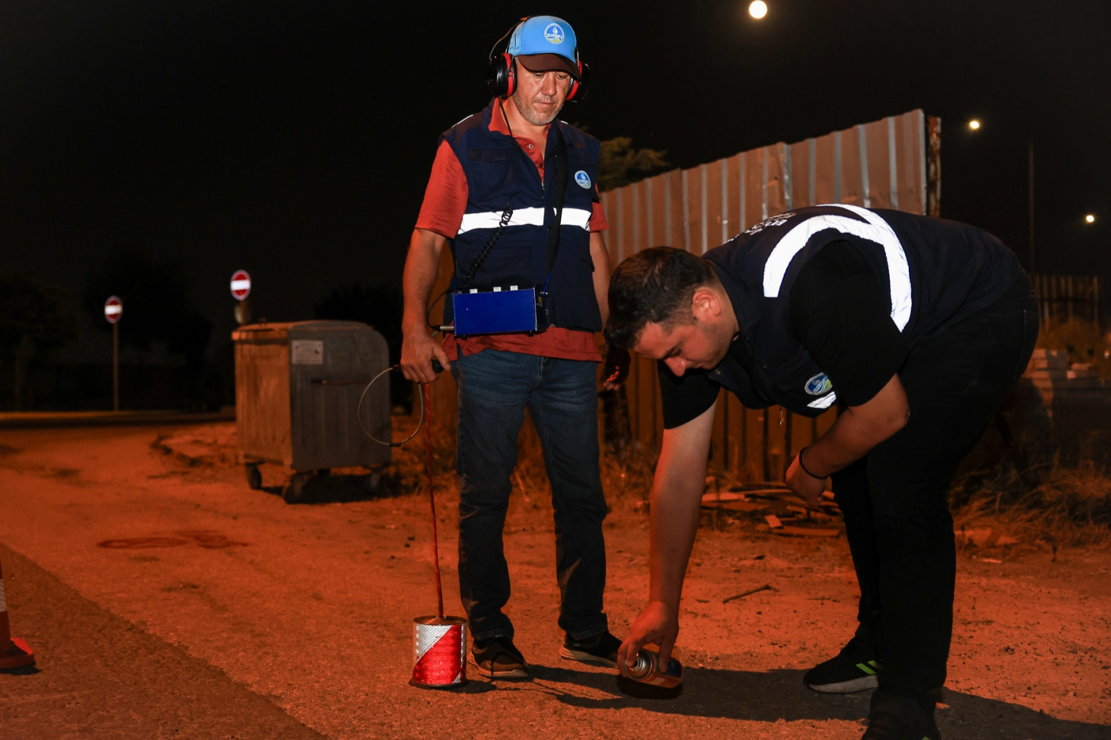
{"label": "black t-shirt sleeves of the bending man, beneath his vest", "polygon": [[[891,321],[891,296],[875,271],[849,242],[831,242],[799,272],[788,296],[791,335],[822,368],[838,401],[860,406],[872,399],[907,359],[910,347]],[[743,342],[730,354],[750,364]],[[673,429],[713,406],[721,386],[705,371],[675,377],[661,361],[663,427]]]}

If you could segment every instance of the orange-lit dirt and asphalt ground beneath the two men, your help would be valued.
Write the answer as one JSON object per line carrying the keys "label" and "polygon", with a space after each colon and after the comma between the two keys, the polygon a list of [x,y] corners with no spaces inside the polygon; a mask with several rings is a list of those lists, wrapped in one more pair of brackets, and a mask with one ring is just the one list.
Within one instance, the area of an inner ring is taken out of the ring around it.
{"label": "orange-lit dirt and asphalt ground beneath the two men", "polygon": [[[0,432],[4,587],[13,632],[38,657],[34,670],[0,673],[0,738],[863,731],[867,692],[801,685],[853,629],[843,536],[704,528],[677,648],[687,675],[661,695],[559,658],[551,508],[516,489],[508,611],[534,680],[472,676],[456,691],[421,690],[408,679],[411,620],[436,608],[427,497],[329,494],[290,506],[248,488],[231,440],[230,424]],[[283,476],[263,474],[271,487]],[[456,499],[443,487],[444,598],[458,614]],[[605,608],[619,636],[647,590],[647,515],[635,503],[614,497],[605,524]],[[961,549],[945,738],[1111,738],[1111,553],[1053,558],[1022,544]]]}

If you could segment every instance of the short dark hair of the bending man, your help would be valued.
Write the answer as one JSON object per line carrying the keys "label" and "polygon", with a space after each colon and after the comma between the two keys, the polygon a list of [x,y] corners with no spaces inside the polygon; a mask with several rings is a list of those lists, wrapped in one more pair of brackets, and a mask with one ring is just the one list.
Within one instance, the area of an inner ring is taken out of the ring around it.
{"label": "short dark hair of the bending man", "polygon": [[618,265],[610,277],[605,338],[631,347],[649,322],[670,328],[690,313],[691,297],[718,282],[710,263],[683,250],[653,246]]}

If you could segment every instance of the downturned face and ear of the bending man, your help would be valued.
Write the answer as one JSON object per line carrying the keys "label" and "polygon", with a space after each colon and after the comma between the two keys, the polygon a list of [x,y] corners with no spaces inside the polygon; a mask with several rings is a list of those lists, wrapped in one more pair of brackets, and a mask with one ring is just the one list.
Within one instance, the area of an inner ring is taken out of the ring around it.
{"label": "downturned face and ear of the bending man", "polygon": [[733,341],[733,327],[721,311],[720,297],[709,288],[695,291],[692,318],[677,322],[670,330],[649,322],[637,337],[633,352],[649,359],[662,359],[677,376],[691,367],[717,367]]}

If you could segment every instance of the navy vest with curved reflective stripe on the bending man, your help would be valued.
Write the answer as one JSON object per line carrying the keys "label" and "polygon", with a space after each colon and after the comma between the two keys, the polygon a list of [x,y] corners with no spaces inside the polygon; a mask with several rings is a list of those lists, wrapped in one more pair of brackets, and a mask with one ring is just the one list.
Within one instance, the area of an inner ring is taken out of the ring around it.
{"label": "navy vest with curved reflective stripe on the bending man", "polygon": [[837,388],[789,330],[794,278],[834,241],[855,246],[890,288],[891,320],[911,347],[987,307],[1021,270],[987,232],[901,211],[815,205],[755,224],[705,253],[733,304],[744,349],[709,377],[745,406],[779,404],[818,416],[837,402]]}

